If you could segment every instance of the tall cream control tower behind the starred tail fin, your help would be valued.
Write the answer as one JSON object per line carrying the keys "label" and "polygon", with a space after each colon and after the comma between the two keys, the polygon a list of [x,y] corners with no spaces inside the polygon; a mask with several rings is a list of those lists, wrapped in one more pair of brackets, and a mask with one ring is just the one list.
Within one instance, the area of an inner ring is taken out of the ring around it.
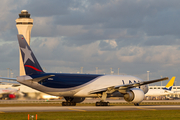
{"label": "tall cream control tower behind the starred tail fin", "polygon": [[[22,10],[19,14],[19,18],[16,19],[16,27],[18,29],[18,34],[22,34],[27,43],[30,45],[31,29],[33,27],[33,19],[30,18],[30,14],[27,10]],[[19,75],[25,75],[24,64],[21,57],[21,52],[19,52]]]}

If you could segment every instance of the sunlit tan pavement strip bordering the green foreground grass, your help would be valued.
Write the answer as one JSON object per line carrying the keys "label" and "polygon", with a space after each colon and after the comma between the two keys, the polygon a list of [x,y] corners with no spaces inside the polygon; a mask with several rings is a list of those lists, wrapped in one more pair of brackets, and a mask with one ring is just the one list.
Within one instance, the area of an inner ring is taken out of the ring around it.
{"label": "sunlit tan pavement strip bordering the green foreground grass", "polygon": [[166,106],[43,106],[43,107],[0,107],[0,113],[6,112],[65,112],[65,111],[120,111],[120,110],[180,110],[180,105]]}

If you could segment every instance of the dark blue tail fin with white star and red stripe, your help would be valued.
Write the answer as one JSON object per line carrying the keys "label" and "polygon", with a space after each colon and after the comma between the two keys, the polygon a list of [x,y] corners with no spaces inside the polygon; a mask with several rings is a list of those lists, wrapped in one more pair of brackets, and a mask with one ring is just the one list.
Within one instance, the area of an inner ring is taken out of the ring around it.
{"label": "dark blue tail fin with white star and red stripe", "polygon": [[18,34],[17,37],[26,75],[44,73],[24,36]]}

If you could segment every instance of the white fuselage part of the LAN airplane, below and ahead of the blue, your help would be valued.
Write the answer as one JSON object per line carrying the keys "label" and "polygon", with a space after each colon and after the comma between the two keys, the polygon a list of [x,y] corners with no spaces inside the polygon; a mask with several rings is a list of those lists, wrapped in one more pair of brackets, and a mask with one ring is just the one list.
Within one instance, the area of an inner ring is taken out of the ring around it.
{"label": "white fuselage part of the LAN airplane, below and ahead of the blue", "polygon": [[[24,76],[24,78],[21,77],[23,76],[17,78],[18,82],[25,84],[36,90],[39,90],[41,92],[54,96],[72,96],[72,97],[97,97],[97,95],[90,93],[95,90],[100,90],[112,86],[115,87],[115,86],[131,84],[134,82],[137,83],[142,81],[137,77],[128,76],[128,75],[104,75],[97,77],[96,79],[80,86],[71,87],[71,88],[52,88],[52,87],[43,86],[37,82],[28,81],[32,79],[30,76]],[[148,91],[147,85],[142,85],[140,89],[143,90],[144,94],[147,93]]]}

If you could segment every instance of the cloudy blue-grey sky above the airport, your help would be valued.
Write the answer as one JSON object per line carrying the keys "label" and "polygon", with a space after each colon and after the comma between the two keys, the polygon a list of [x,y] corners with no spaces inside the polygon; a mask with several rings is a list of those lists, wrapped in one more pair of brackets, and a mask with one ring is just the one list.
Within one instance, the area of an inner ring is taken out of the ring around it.
{"label": "cloudy blue-grey sky above the airport", "polygon": [[150,79],[176,76],[180,85],[179,6],[179,0],[1,0],[0,75],[19,75],[15,20],[27,10],[31,48],[46,72],[119,69],[147,80],[150,71]]}

